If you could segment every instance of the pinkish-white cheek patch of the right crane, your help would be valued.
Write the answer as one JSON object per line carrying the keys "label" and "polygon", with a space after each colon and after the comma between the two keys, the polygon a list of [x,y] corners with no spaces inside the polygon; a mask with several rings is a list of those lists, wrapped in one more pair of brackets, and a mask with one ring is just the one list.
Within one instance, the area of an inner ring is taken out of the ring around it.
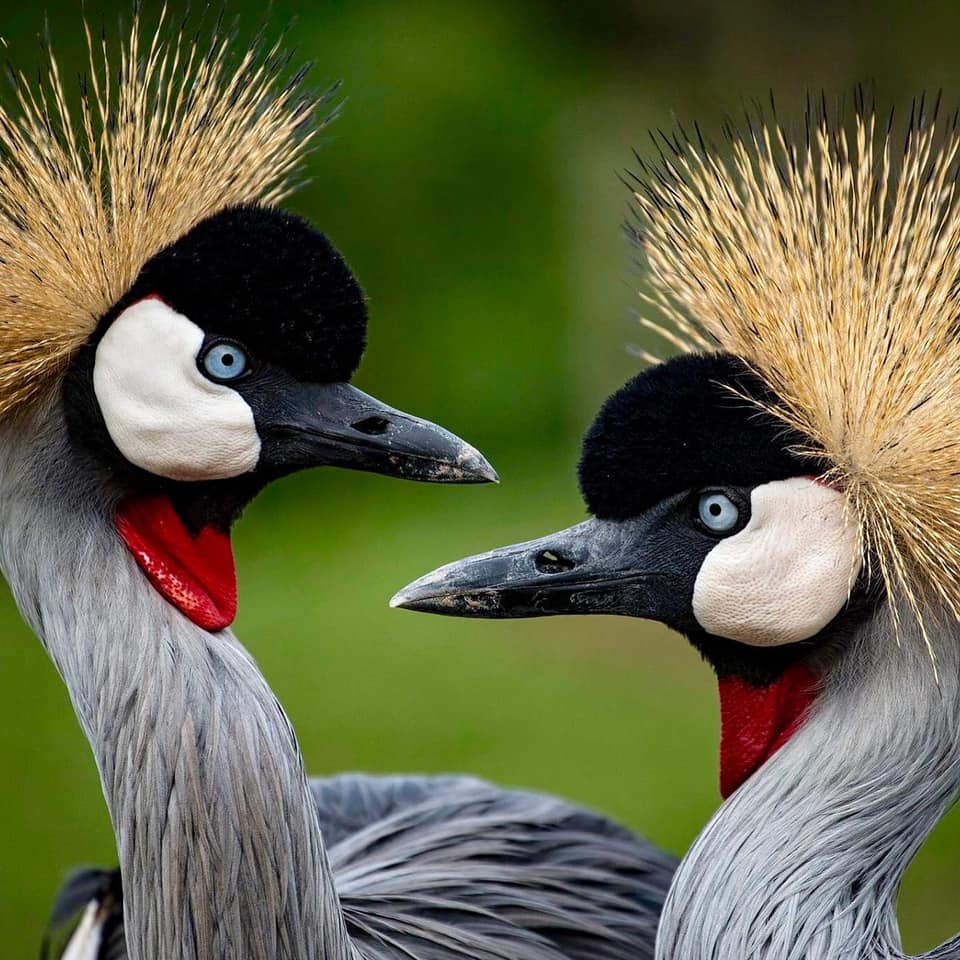
{"label": "pinkish-white cheek patch of the right crane", "polygon": [[708,633],[752,646],[806,640],[847,601],[860,571],[844,496],[805,477],[755,487],[750,522],[707,554],[693,613]]}

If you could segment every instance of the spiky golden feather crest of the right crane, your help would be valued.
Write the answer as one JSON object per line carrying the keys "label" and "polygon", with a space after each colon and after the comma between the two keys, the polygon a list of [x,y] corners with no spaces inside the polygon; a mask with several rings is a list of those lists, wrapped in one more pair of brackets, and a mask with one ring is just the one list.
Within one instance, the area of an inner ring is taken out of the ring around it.
{"label": "spiky golden feather crest of the right crane", "polygon": [[921,625],[934,599],[960,617],[960,135],[936,113],[901,138],[820,109],[799,142],[755,117],[726,157],[666,138],[634,193],[645,324],[770,385]]}

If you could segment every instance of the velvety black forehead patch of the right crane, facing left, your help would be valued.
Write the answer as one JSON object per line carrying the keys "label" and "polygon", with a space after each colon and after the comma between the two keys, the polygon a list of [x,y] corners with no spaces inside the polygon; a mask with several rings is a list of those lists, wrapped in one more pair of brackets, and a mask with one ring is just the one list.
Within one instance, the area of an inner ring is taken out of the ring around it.
{"label": "velvety black forehead patch of the right crane, facing left", "polygon": [[629,380],[604,403],[583,443],[587,508],[623,519],[685,490],[755,486],[828,469],[794,452],[806,439],[757,400],[775,397],[730,354],[675,357]]}

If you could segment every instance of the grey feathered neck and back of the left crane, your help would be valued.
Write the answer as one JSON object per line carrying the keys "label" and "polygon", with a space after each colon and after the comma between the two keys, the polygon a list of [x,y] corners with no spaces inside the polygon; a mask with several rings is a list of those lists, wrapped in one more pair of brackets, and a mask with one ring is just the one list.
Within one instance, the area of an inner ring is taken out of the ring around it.
{"label": "grey feathered neck and back of the left crane", "polygon": [[601,817],[462,779],[311,788],[250,655],[148,585],[57,403],[31,418],[0,427],[0,565],[93,749],[131,960],[651,955],[672,864]]}

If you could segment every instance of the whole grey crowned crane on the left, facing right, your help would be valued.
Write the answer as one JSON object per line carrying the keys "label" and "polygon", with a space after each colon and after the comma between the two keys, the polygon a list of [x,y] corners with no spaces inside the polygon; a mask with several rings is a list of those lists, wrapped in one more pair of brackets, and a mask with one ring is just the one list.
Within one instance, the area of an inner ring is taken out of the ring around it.
{"label": "whole grey crowned crane on the left, facing right", "polygon": [[[495,475],[348,383],[357,281],[276,207],[302,77],[229,37],[91,44],[0,112],[0,567],[70,694],[122,875],[84,874],[70,960],[650,956],[673,864],[602,817],[451,778],[309,781],[230,630],[233,521],[332,464]],[[318,678],[318,685],[322,678]]]}

